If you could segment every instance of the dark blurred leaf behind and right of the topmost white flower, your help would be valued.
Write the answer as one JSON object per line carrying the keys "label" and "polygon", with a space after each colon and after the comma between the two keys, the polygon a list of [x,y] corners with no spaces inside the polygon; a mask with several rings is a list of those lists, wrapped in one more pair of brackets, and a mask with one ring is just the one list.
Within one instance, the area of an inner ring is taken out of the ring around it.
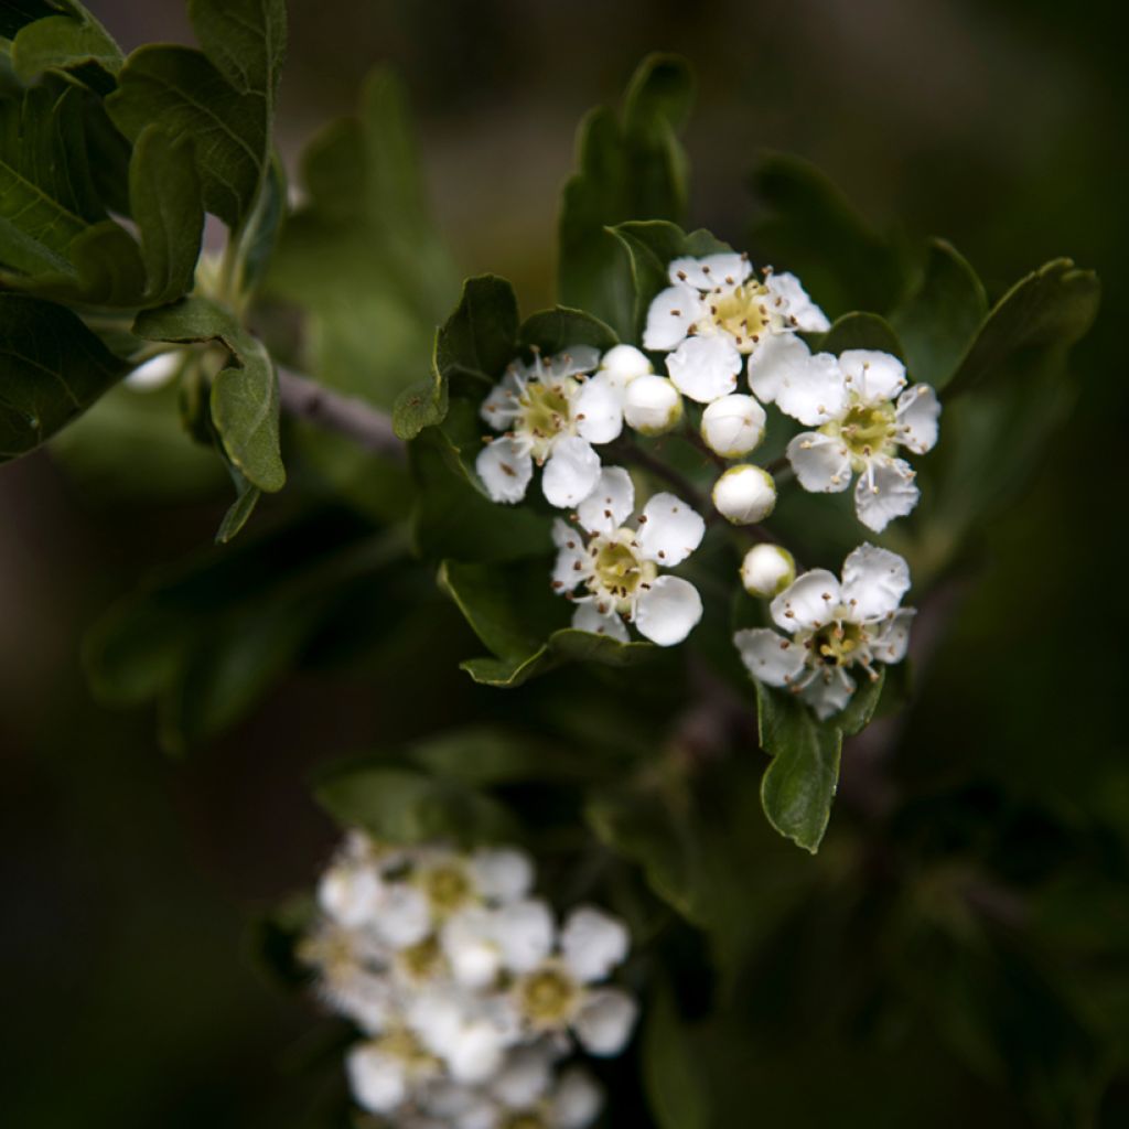
{"label": "dark blurred leaf behind and right of the topmost white flower", "polygon": [[814,165],[767,154],[752,187],[763,212],[752,229],[758,254],[799,274],[829,315],[894,305],[904,288],[898,251]]}

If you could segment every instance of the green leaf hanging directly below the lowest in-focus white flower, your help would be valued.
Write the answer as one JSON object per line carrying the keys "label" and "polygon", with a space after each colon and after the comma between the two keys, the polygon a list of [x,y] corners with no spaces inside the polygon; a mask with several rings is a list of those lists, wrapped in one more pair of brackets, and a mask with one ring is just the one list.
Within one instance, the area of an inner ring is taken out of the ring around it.
{"label": "green leaf hanging directly below the lowest in-focus white flower", "polygon": [[842,734],[821,725],[798,698],[756,683],[761,749],[772,761],[761,781],[764,814],[780,834],[813,855],[831,817]]}

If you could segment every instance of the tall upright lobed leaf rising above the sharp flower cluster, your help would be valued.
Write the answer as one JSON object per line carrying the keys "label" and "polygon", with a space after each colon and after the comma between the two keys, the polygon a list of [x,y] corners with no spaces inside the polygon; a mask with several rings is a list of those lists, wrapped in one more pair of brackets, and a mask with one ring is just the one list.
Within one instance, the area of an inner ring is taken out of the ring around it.
{"label": "tall upright lobed leaf rising above the sharp flower cluster", "polygon": [[577,172],[561,203],[558,288],[564,305],[589,310],[623,341],[634,340],[634,294],[623,252],[606,229],[628,220],[683,220],[688,167],[677,131],[692,97],[688,64],[650,55],[631,80],[622,120],[602,108],[580,126]]}

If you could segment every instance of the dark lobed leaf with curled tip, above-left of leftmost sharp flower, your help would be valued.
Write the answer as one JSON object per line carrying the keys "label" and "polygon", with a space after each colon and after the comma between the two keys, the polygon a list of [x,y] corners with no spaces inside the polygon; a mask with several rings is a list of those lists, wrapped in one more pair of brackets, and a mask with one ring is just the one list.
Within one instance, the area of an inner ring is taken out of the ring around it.
{"label": "dark lobed leaf with curled tip, above-left of leftmost sharp flower", "polygon": [[432,378],[405,390],[392,422],[401,439],[414,439],[447,415],[450,382],[476,382],[484,396],[517,355],[514,288],[496,274],[467,279],[454,313],[435,339]]}

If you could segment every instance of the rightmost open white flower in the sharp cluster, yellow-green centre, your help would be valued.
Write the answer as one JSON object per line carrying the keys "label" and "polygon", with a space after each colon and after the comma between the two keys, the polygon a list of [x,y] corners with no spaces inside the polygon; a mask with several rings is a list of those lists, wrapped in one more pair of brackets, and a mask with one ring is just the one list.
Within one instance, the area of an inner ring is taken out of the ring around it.
{"label": "rightmost open white flower in the sharp cluster, yellow-green centre", "polygon": [[898,449],[920,455],[936,444],[940,404],[927,384],[905,388],[905,366],[890,353],[852,349],[839,358],[838,369],[841,406],[817,431],[797,435],[788,460],[805,490],[837,493],[857,474],[855,511],[881,533],[917,505],[913,469]]}

